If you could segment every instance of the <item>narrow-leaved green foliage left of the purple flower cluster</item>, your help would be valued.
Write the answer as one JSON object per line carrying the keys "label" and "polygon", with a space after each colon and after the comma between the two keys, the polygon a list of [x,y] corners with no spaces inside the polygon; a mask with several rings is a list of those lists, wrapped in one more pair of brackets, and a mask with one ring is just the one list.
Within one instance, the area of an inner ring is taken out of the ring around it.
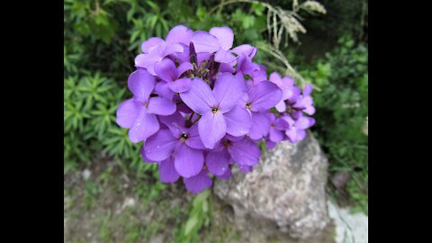
{"label": "narrow-leaved green foliage left of the purple flower cluster", "polygon": [[96,151],[141,160],[139,145],[132,144],[127,130],[115,123],[115,112],[125,99],[125,91],[125,87],[99,72],[65,78],[65,173],[79,162],[88,163]]}

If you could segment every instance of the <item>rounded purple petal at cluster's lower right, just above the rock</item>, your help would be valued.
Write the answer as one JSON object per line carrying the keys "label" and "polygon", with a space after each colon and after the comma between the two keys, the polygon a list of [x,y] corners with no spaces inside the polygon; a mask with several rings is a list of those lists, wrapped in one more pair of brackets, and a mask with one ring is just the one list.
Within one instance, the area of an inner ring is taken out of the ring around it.
{"label": "rounded purple petal at cluster's lower right, just above the rock", "polygon": [[259,162],[261,150],[257,144],[247,139],[233,141],[228,147],[229,155],[238,165],[255,166]]}

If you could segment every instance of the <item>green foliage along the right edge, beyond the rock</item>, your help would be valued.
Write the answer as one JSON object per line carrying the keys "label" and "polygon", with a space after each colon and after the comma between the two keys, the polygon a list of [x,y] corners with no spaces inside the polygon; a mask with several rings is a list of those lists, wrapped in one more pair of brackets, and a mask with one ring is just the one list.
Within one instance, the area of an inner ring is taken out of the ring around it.
{"label": "green foliage along the right edge, beyond the rock", "polygon": [[[350,37],[303,72],[320,91],[313,94],[315,134],[329,156],[330,173],[347,171],[351,202],[367,212],[367,136],[363,131],[368,108],[367,48]],[[312,68],[311,68],[312,69]]]}

